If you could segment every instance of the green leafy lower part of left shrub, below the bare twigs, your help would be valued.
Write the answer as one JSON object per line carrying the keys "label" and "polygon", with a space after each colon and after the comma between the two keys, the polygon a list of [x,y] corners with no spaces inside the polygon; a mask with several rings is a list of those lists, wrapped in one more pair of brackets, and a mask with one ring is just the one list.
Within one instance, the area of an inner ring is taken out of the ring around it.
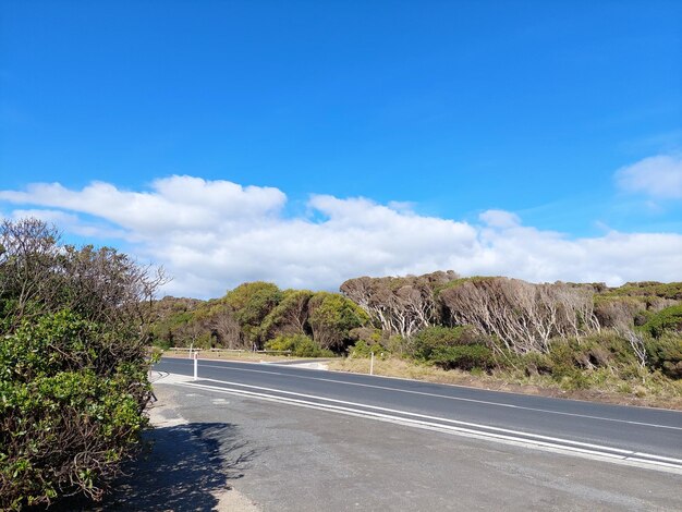
{"label": "green leafy lower part of left shrub, below the bare twigs", "polygon": [[146,425],[146,364],[111,336],[61,312],[0,339],[0,508],[97,499],[131,455]]}

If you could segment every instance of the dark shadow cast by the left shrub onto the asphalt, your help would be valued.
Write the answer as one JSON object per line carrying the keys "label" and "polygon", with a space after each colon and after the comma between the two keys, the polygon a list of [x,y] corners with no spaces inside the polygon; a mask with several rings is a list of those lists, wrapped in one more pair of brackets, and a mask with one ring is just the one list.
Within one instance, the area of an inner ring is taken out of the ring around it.
{"label": "dark shadow cast by the left shrub onto the asphalt", "polygon": [[147,446],[124,471],[102,503],[66,500],[50,511],[208,511],[217,491],[241,478],[254,450],[227,423],[159,427],[145,434]]}

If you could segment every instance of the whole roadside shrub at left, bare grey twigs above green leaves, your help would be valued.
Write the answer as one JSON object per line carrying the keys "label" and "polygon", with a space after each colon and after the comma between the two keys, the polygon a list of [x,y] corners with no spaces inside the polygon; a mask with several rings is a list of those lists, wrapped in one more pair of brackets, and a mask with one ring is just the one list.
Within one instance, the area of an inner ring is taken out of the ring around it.
{"label": "whole roadside shrub at left, bare grey twigs above green leaves", "polygon": [[159,282],[40,221],[0,225],[0,509],[99,499],[135,452]]}

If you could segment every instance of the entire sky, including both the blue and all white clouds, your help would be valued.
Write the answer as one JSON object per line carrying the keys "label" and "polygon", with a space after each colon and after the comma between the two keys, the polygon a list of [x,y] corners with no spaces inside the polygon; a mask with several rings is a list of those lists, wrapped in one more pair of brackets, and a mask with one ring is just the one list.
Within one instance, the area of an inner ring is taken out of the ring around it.
{"label": "entire sky, including both the blue and all white clouds", "polygon": [[682,280],[678,1],[0,3],[0,217],[209,297]]}

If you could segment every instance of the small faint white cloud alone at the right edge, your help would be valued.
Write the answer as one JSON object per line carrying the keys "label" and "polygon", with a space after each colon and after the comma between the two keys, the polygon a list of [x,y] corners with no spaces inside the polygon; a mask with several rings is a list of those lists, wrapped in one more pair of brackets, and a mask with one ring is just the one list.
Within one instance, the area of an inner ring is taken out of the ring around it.
{"label": "small faint white cloud alone at the right edge", "polygon": [[645,158],[616,173],[619,186],[661,199],[682,198],[682,156]]}

